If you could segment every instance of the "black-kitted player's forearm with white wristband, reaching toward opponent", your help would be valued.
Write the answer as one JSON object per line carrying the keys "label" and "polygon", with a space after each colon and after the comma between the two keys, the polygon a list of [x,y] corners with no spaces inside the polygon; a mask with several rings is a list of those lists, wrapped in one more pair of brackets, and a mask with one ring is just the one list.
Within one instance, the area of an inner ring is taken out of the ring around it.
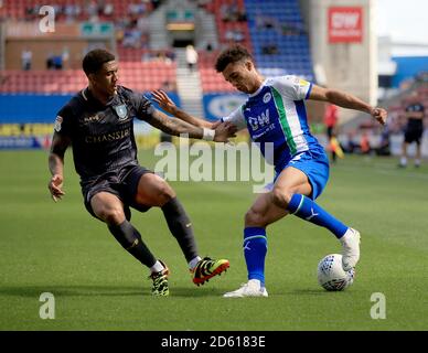
{"label": "black-kitted player's forearm with white wristband, reaching toward opponent", "polygon": [[215,129],[208,129],[188,124],[180,119],[170,118],[157,109],[154,109],[153,114],[146,121],[163,132],[173,136],[188,135],[190,138],[215,142],[228,142],[231,137],[236,136],[236,127],[231,122],[222,122]]}

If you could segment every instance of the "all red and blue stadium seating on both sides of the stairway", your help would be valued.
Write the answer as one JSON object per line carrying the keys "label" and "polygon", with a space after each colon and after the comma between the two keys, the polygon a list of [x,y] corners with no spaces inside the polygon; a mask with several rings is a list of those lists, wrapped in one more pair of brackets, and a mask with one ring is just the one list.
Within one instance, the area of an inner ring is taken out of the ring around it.
{"label": "all red and blue stadium seating on both sides of the stairway", "polygon": [[[162,88],[176,95],[174,51],[148,47],[146,34],[150,33],[140,25],[159,2],[145,1],[141,6],[141,1],[60,0],[55,2],[55,20],[83,22],[95,18],[96,21],[113,21],[120,84],[145,93]],[[39,17],[39,8],[36,0],[4,1],[0,17],[32,21]],[[205,1],[203,8],[214,14],[220,44],[216,50],[199,50],[197,67],[204,95],[237,93],[214,69],[218,50],[231,43],[247,46],[265,75],[297,74],[313,79],[308,35],[297,0],[286,0],[286,6],[283,0],[263,3],[256,0],[213,0]],[[85,85],[86,77],[78,67],[0,72],[0,94],[3,95],[71,95]],[[179,99],[176,95],[175,100]]]}

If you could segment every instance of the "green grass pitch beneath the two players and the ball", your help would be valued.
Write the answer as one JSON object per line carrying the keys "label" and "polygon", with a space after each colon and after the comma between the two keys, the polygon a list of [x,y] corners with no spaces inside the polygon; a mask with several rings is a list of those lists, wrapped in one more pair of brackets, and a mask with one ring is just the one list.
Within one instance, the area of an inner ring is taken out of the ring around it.
{"label": "green grass pitch beneath the two players and the ball", "polygon": [[[324,228],[286,217],[268,228],[269,298],[224,299],[246,280],[243,220],[250,183],[172,182],[190,214],[202,256],[229,270],[195,287],[160,210],[132,222],[171,268],[170,297],[152,298],[148,271],[83,206],[71,154],[63,201],[47,191],[46,152],[0,152],[0,330],[427,330],[428,167],[395,159],[346,157],[332,167],[318,200],[360,229],[354,285],[327,292],[317,264],[340,244]],[[152,151],[141,164],[153,168]],[[55,319],[39,315],[40,296],[55,298]],[[375,292],[385,319],[371,317]]]}

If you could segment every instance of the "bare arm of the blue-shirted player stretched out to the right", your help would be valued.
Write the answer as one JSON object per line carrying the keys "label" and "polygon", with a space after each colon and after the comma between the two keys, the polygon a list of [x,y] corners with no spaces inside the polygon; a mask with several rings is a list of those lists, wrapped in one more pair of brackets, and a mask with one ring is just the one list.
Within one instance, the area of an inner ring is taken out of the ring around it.
{"label": "bare arm of the blue-shirted player stretched out to the right", "polygon": [[323,88],[317,85],[312,86],[309,99],[330,101],[342,108],[367,113],[382,125],[385,125],[388,115],[385,109],[379,107],[372,107],[364,100],[351,94],[338,89]]}

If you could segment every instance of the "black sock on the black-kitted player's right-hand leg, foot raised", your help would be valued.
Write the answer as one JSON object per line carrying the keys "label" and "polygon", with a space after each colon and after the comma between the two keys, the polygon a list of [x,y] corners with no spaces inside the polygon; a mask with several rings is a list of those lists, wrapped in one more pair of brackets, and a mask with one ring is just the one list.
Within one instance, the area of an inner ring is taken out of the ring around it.
{"label": "black sock on the black-kitted player's right-hand leg, foot raised", "polygon": [[162,206],[168,227],[179,242],[188,263],[197,256],[196,242],[193,235],[192,223],[186,215],[183,205],[175,197]]}

